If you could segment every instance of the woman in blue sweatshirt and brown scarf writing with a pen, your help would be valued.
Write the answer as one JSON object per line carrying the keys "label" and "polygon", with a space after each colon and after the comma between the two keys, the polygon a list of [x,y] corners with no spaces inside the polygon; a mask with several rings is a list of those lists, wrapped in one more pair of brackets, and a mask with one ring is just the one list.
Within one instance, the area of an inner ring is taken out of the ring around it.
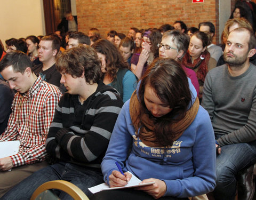
{"label": "woman in blue sweatshirt and brown scarf writing with a pen", "polygon": [[[177,199],[215,187],[215,144],[210,117],[177,62],[157,59],[117,118],[101,164],[110,187],[133,175],[154,185],[101,191],[91,199]],[[115,164],[118,162],[122,175]],[[99,196],[101,198],[99,198]]]}

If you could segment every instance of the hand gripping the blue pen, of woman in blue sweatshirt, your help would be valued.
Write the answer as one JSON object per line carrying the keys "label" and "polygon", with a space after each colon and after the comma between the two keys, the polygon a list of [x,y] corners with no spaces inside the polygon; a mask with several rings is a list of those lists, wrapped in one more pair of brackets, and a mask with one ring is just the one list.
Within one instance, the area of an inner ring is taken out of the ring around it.
{"label": "hand gripping the blue pen, of woman in blue sweatshirt", "polygon": [[121,174],[121,172],[114,170],[109,175],[109,186],[110,188],[125,186],[127,182],[131,180],[131,178],[132,178],[132,174],[128,172],[125,172],[123,175]]}

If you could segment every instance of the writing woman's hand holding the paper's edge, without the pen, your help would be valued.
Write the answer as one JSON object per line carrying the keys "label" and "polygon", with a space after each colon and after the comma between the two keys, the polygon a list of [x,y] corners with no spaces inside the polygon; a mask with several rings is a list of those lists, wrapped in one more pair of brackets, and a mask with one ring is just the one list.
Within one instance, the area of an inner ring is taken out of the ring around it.
{"label": "writing woman's hand holding the paper's edge, without the pen", "polygon": [[147,182],[153,182],[155,183],[153,185],[148,185],[148,186],[141,186],[134,188],[136,190],[143,190],[149,195],[153,196],[155,199],[158,199],[166,193],[166,184],[164,181],[159,180],[159,179],[145,179],[141,183],[147,183]]}

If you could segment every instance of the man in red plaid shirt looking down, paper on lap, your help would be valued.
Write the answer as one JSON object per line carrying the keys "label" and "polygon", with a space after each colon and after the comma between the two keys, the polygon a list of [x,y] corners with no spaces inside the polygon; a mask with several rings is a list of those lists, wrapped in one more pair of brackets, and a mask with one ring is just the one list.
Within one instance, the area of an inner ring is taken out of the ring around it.
{"label": "man in red plaid shirt looking down, paper on lap", "polygon": [[0,145],[2,141],[20,141],[18,154],[0,158],[0,197],[47,165],[45,139],[61,92],[37,77],[32,67],[29,57],[21,51],[7,53],[0,62],[0,73],[17,91]]}

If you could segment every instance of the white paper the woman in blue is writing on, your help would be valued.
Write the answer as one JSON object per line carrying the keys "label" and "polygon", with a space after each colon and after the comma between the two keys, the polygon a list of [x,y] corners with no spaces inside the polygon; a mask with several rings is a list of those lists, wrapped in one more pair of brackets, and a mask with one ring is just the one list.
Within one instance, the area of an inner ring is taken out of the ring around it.
{"label": "white paper the woman in blue is writing on", "polygon": [[[132,174],[131,172],[129,172],[129,173]],[[141,180],[138,179],[137,177],[135,177],[135,175],[132,174],[132,178],[127,183],[126,186],[110,188],[108,186],[108,183],[105,182],[105,183],[101,183],[98,186],[94,186],[94,187],[91,187],[91,188],[88,188],[88,189],[91,191],[91,193],[94,194],[94,193],[98,193],[99,191],[102,191],[102,190],[112,190],[112,189],[122,189],[122,188],[135,188],[135,187],[153,185],[155,183],[155,181],[154,181],[154,182],[142,183],[142,184],[139,185],[140,182],[141,182]]]}

